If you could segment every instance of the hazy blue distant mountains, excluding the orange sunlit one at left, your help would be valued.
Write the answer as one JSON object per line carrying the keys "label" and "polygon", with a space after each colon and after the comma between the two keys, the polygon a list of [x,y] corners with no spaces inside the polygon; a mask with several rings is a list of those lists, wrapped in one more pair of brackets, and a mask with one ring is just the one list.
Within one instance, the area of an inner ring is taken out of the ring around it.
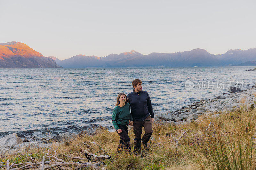
{"label": "hazy blue distant mountains, excluding the orange sunlit one at left", "polygon": [[85,67],[209,67],[209,66],[255,66],[256,48],[229,50],[224,54],[210,54],[204,49],[177,53],[150,53],[144,55],[132,50],[106,57],[76,55],[59,60],[51,57],[64,68]]}

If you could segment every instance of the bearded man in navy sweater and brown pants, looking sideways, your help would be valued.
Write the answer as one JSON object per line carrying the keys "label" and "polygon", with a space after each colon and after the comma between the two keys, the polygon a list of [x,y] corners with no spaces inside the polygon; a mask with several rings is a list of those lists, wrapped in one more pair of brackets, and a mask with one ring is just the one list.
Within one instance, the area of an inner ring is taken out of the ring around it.
{"label": "bearded man in navy sweater and brown pants, looking sideways", "polygon": [[[150,139],[153,130],[152,123],[154,122],[154,112],[148,92],[142,91],[142,82],[139,79],[132,81],[133,92],[127,95],[130,103],[131,114],[133,118],[133,133],[134,133],[134,153],[139,154],[141,144],[144,149],[148,149],[147,142]],[[142,127],[145,134],[141,138]]]}

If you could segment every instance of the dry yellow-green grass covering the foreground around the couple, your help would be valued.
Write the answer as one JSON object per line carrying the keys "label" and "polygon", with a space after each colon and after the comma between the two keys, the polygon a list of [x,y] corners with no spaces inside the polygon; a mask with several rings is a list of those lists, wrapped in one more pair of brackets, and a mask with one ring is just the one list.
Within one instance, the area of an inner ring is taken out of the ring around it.
{"label": "dry yellow-green grass covering the foreground around the couple", "polygon": [[[61,145],[57,149],[57,155],[64,153],[84,157],[75,145],[83,141],[93,141],[112,155],[111,159],[104,160],[107,169],[111,170],[254,169],[255,117],[255,109],[241,109],[223,114],[220,118],[205,118],[187,125],[154,124],[148,152],[142,151],[140,155],[124,153],[120,157],[116,156],[119,136],[116,132],[102,130],[94,136],[84,136],[77,141]],[[185,131],[187,132],[184,133]],[[129,136],[133,149],[132,128],[129,129]],[[7,159],[10,159],[10,164],[14,161],[31,161],[28,157],[42,161],[42,156],[42,150],[28,150],[23,155],[0,157],[0,162],[6,163]],[[69,160],[64,156],[59,157]],[[217,166],[218,164],[224,166]]]}

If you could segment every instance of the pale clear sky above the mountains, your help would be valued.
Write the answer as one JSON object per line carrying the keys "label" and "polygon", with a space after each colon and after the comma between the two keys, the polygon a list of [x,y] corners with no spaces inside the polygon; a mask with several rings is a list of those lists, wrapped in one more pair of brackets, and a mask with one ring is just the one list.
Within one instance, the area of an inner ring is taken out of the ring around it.
{"label": "pale clear sky above the mountains", "polygon": [[17,41],[60,60],[131,50],[256,47],[256,1],[0,0],[0,42]]}

